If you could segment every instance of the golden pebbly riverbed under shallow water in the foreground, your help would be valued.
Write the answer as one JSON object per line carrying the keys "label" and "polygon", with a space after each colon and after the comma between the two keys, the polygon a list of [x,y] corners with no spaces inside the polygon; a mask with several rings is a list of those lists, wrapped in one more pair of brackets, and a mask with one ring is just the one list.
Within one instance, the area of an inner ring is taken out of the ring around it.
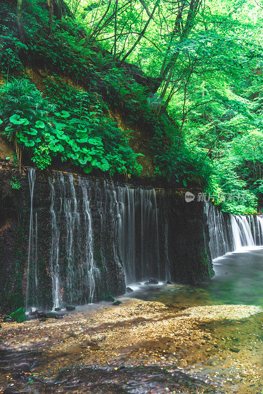
{"label": "golden pebbly riverbed under shallow water in the foreground", "polygon": [[[185,307],[125,297],[121,300],[119,306],[103,303],[81,307],[60,320],[1,323],[0,349],[14,354],[37,351],[37,362],[31,366],[30,373],[41,381],[50,382],[61,371],[72,368],[101,367],[114,371],[156,366],[200,378],[219,390],[218,393],[262,393],[259,308]],[[0,393],[7,387],[20,392],[24,386],[31,390],[28,383],[17,384],[10,370],[1,375]],[[160,386],[149,393],[162,393],[159,389]],[[174,391],[168,384],[163,390],[163,393],[179,393],[178,388]]]}

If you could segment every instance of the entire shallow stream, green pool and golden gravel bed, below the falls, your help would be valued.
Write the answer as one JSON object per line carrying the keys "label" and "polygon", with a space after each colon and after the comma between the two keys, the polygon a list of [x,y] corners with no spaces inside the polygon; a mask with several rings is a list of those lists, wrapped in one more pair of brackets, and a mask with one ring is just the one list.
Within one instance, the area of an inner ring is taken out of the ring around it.
{"label": "entire shallow stream, green pool and golden gravel bed, below the falls", "polygon": [[1,323],[0,393],[262,394],[262,268],[263,248],[231,253],[208,284]]}

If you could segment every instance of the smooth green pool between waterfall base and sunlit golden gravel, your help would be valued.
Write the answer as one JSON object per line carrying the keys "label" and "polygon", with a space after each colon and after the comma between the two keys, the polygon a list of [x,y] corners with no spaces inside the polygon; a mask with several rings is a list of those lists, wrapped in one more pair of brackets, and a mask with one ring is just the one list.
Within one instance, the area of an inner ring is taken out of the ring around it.
{"label": "smooth green pool between waterfall base and sunlit golden gravel", "polygon": [[213,261],[215,276],[201,285],[133,287],[132,297],[185,306],[245,304],[263,307],[263,247],[228,253]]}

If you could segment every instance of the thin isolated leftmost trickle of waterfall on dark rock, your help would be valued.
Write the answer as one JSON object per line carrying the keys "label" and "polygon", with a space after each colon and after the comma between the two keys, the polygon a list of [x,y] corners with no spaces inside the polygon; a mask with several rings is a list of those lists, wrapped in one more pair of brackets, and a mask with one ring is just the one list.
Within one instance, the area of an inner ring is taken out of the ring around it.
{"label": "thin isolated leftmost trickle of waterfall on dark rock", "polygon": [[37,214],[35,224],[33,218],[33,193],[35,183],[35,168],[28,168],[29,193],[30,193],[30,222],[29,222],[29,246],[27,265],[27,291],[26,309],[37,304],[38,279],[37,279]]}

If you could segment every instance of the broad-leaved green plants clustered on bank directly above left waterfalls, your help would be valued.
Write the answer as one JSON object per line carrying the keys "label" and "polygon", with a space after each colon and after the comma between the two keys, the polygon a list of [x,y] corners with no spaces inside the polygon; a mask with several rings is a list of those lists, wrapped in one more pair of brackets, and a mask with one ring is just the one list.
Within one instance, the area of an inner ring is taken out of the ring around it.
{"label": "broad-leaved green plants clustered on bank directly above left waterfalls", "polygon": [[10,141],[28,149],[39,168],[46,168],[52,157],[60,155],[62,161],[70,160],[86,173],[93,168],[139,173],[138,155],[128,147],[127,137],[102,116],[99,102],[90,107],[89,94],[72,89],[75,105],[57,111],[27,79],[13,79],[0,93],[3,132]]}

